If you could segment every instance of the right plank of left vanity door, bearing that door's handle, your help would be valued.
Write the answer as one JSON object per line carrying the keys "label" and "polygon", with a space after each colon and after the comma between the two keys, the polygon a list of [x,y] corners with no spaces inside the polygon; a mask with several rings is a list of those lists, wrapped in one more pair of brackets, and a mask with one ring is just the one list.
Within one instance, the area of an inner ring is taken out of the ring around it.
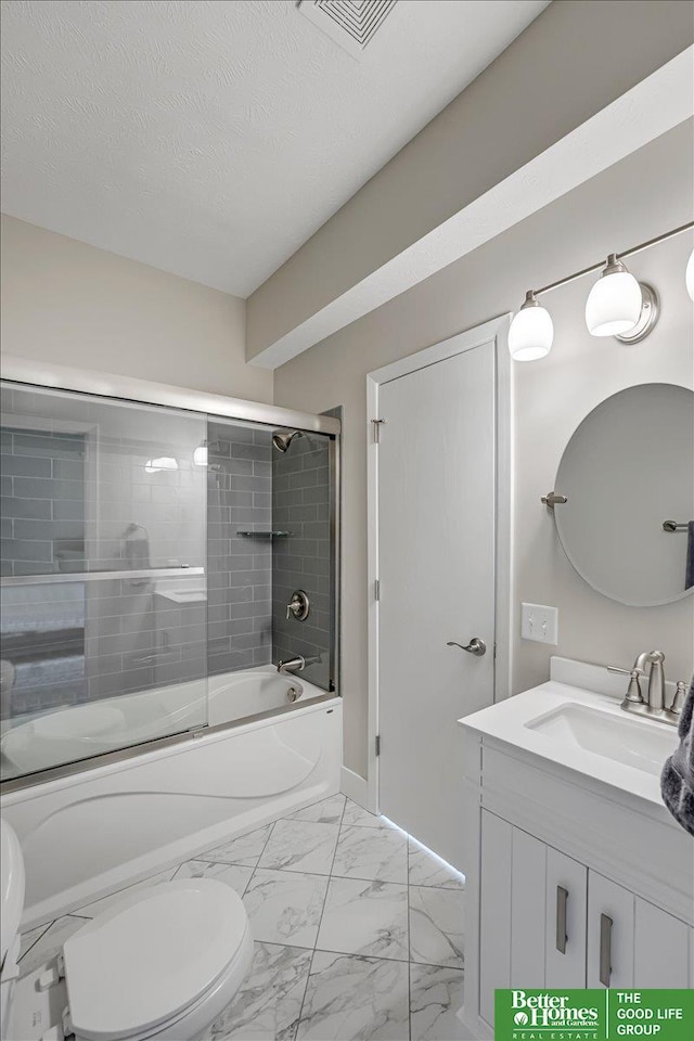
{"label": "right plank of left vanity door, bearing that door's handle", "polygon": [[549,846],[545,987],[586,987],[587,904],[588,869]]}

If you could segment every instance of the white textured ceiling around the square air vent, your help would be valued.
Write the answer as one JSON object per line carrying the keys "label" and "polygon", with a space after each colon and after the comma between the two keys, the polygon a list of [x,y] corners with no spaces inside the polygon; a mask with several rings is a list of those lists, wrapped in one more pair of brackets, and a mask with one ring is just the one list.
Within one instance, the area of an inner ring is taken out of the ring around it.
{"label": "white textured ceiling around the square air vent", "polygon": [[294,0],[3,0],[2,208],[247,296],[544,7],[399,0],[356,61]]}

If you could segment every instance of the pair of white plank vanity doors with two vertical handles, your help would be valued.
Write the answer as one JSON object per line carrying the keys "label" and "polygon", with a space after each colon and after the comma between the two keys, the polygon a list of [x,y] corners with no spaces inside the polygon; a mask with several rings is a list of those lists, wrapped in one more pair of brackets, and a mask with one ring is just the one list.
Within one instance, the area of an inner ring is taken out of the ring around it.
{"label": "pair of white plank vanity doors with two vertical handles", "polygon": [[485,1023],[497,988],[692,986],[685,922],[496,813],[480,817]]}

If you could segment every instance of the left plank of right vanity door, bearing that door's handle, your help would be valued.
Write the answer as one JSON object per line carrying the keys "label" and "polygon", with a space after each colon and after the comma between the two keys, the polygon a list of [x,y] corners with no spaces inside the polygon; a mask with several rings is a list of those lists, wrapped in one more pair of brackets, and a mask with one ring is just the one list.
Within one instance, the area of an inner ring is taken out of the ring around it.
{"label": "left plank of right vanity door, bearing that door's handle", "polygon": [[633,892],[589,871],[589,988],[633,987]]}

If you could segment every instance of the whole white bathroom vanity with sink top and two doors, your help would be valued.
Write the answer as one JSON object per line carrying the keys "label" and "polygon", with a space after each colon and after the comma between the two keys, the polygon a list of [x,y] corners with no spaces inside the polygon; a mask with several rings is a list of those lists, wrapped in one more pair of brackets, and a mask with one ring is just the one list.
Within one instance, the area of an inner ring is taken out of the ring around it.
{"label": "whole white bathroom vanity with sink top and two doors", "polygon": [[460,723],[470,1034],[492,1036],[497,989],[694,987],[694,840],[659,792],[676,734],[565,678]]}

